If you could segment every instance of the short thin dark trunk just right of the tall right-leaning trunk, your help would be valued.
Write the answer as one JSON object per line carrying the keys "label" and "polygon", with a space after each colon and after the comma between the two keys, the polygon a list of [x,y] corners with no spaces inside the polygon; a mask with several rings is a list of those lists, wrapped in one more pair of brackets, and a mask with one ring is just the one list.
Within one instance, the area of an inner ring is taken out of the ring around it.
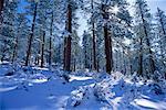
{"label": "short thin dark trunk just right of the tall right-leaning trunk", "polygon": [[42,50],[41,50],[41,67],[44,66],[44,43],[45,43],[45,32],[43,31]]}

